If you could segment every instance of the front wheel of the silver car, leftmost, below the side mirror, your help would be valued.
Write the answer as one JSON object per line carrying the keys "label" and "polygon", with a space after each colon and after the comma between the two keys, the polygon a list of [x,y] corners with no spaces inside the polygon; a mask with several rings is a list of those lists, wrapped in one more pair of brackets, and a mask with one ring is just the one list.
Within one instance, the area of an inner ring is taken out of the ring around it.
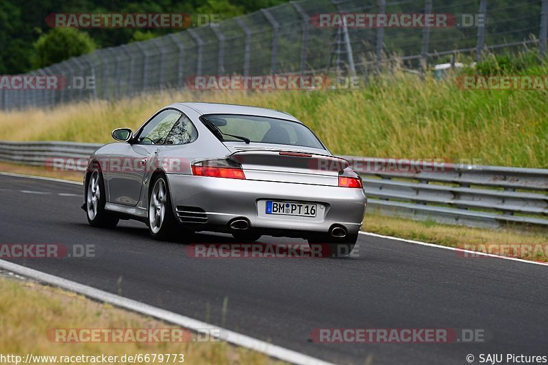
{"label": "front wheel of the silver car, leftmost, below the side mirror", "polygon": [[[97,194],[99,193],[99,194]],[[97,196],[99,195],[99,196]],[[120,219],[105,211],[106,194],[103,174],[98,167],[88,173],[86,178],[86,217],[92,227],[114,228]]]}

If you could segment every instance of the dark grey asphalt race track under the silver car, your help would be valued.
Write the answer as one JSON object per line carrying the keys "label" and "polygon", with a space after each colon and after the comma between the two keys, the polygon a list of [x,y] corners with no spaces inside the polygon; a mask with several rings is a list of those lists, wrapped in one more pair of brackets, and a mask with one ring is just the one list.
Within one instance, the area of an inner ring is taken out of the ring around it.
{"label": "dark grey asphalt race track under the silver car", "polygon": [[[480,353],[548,355],[547,267],[366,235],[354,258],[192,258],[184,243],[153,241],[136,221],[88,226],[78,185],[0,176],[0,197],[0,243],[92,244],[98,252],[10,261],[322,360],[467,364],[467,354],[475,363]],[[198,234],[197,242],[236,241]],[[316,328],[483,329],[488,339],[323,344],[310,340]]]}

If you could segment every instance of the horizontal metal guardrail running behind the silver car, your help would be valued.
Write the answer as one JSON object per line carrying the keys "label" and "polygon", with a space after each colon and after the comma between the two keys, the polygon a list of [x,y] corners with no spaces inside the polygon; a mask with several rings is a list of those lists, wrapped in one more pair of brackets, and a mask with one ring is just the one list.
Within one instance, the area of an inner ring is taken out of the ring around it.
{"label": "horizontal metal guardrail running behind the silver car", "polygon": [[[54,167],[54,158],[66,157],[75,164],[71,168],[85,171],[88,157],[100,146],[0,141],[0,161]],[[548,226],[548,170],[345,158],[362,174],[368,212],[488,228]]]}

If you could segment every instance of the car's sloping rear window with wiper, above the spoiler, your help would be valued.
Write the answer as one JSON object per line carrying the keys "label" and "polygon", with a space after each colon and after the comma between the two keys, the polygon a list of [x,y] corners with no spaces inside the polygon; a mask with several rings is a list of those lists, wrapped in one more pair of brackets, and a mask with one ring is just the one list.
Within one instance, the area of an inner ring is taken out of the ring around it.
{"label": "car's sloping rear window with wiper, above the spoiler", "polygon": [[248,138],[254,143],[325,149],[310,129],[290,120],[235,114],[208,114],[202,118],[222,133],[226,133],[219,136],[223,141],[242,141],[237,137],[229,136],[237,135]]}

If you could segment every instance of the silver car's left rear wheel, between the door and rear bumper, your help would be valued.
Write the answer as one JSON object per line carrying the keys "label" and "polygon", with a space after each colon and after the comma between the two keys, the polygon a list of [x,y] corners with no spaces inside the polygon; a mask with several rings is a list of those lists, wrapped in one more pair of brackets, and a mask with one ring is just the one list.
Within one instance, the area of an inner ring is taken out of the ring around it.
{"label": "silver car's left rear wheel, between the door and rear bumper", "polygon": [[[160,193],[159,189],[162,189],[163,192]],[[161,203],[161,206],[158,206],[159,203]],[[160,208],[160,210],[158,210],[158,208]],[[163,215],[162,217],[159,217],[158,213],[161,213],[162,210]],[[175,230],[177,228],[177,221],[173,215],[171,194],[169,193],[167,178],[164,174],[155,176],[154,180],[151,181],[147,226],[149,227],[149,233],[153,239],[166,241],[176,238]]]}

